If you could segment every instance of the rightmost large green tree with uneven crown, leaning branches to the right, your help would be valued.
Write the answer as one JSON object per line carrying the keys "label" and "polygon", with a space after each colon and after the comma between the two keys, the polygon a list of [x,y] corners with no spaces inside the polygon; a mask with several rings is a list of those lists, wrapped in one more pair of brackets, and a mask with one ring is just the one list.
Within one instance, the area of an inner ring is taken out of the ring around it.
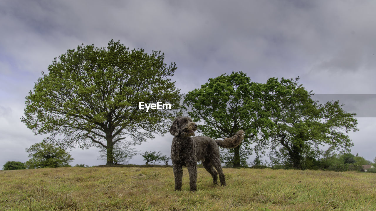
{"label": "rightmost large green tree with uneven crown, leaning branches to the right", "polygon": [[320,146],[349,151],[353,143],[348,133],[358,129],[355,113],[346,113],[338,101],[318,104],[298,80],[270,78],[264,84],[262,101],[273,125],[269,139],[260,139],[256,149],[268,148],[274,163],[301,169],[305,157],[323,154]]}

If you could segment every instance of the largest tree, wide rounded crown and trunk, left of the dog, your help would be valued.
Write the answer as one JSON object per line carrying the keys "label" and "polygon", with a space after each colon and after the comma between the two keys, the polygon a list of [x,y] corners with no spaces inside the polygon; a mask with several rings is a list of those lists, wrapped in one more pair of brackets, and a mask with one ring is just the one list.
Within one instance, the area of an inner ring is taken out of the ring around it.
{"label": "largest tree, wide rounded crown and trunk, left of the dog", "polygon": [[105,148],[106,165],[114,163],[120,140],[141,143],[167,132],[174,113],[141,110],[139,102],[179,107],[179,90],[169,78],[176,65],[167,66],[160,51],[130,51],[112,40],[101,48],[81,45],[55,58],[48,70],[26,96],[21,121],[63,146]]}

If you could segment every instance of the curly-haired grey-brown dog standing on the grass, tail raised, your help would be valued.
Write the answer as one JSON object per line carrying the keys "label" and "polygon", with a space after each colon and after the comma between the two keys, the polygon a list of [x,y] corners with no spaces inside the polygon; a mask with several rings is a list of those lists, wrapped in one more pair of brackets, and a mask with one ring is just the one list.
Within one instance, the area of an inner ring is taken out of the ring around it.
{"label": "curly-haired grey-brown dog standing on the grass, tail raised", "polygon": [[194,132],[196,130],[196,123],[185,116],[176,118],[171,125],[170,133],[174,136],[171,145],[171,161],[175,177],[175,190],[182,189],[182,166],[186,166],[190,178],[190,191],[196,191],[197,161],[202,161],[204,168],[212,175],[213,184],[217,184],[219,175],[221,185],[226,185],[218,146],[224,148],[237,147],[244,137],[243,130],[224,140],[214,140],[206,136],[191,137],[195,136]]}

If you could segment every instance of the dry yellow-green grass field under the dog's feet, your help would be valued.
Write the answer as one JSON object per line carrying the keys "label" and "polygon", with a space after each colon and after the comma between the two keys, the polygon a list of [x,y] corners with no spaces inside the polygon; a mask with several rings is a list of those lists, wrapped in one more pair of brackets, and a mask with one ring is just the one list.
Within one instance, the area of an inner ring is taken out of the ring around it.
{"label": "dry yellow-green grass field under the dog's feet", "polygon": [[171,167],[0,171],[0,210],[376,210],[376,174],[224,168],[226,187],[199,168],[197,192],[174,191]]}

